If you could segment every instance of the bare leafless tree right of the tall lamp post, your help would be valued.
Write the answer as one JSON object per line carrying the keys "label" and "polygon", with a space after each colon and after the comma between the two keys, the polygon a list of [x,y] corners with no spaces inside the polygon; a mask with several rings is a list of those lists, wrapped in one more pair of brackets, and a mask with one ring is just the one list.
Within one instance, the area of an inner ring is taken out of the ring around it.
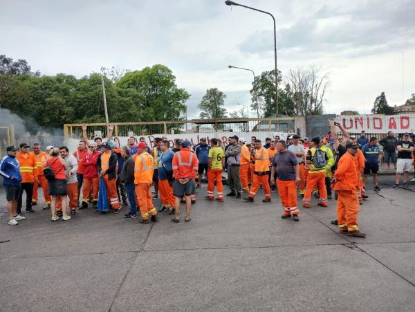
{"label": "bare leafless tree right of the tall lamp post", "polygon": [[330,86],[329,75],[320,75],[315,66],[304,70],[290,70],[286,77],[286,94],[293,101],[297,116],[321,115],[326,91]]}

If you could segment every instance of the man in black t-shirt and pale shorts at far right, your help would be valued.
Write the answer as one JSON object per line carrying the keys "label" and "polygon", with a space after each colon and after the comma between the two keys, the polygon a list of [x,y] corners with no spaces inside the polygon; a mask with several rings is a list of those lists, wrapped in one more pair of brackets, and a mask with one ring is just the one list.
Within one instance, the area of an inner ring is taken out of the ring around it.
{"label": "man in black t-shirt and pale shorts at far right", "polygon": [[394,188],[399,187],[400,175],[403,174],[403,187],[407,188],[409,170],[412,167],[412,154],[414,143],[409,140],[409,134],[404,134],[403,139],[398,142],[398,161],[396,163],[396,177]]}

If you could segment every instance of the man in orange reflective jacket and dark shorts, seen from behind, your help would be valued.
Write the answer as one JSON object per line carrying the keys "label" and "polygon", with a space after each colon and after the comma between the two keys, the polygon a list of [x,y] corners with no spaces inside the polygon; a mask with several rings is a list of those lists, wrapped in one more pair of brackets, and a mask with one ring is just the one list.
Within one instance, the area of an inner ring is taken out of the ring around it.
{"label": "man in orange reflective jacket and dark shorts, seen from behind", "polygon": [[190,208],[192,207],[191,195],[194,194],[194,177],[199,169],[199,161],[196,154],[190,152],[190,142],[182,143],[180,151],[173,156],[173,194],[175,199],[175,210],[173,222],[178,222],[178,212],[180,210],[180,202],[183,197],[186,199],[186,222],[190,221]]}

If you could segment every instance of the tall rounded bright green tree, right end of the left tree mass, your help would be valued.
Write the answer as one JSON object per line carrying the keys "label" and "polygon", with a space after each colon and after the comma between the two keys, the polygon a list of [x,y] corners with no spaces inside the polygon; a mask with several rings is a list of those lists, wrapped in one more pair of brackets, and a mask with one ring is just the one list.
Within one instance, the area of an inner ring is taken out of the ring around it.
{"label": "tall rounded bright green tree, right end of the left tree mass", "polygon": [[185,102],[190,98],[185,89],[178,89],[176,77],[164,65],[146,67],[126,73],[116,85],[121,89],[136,89],[144,96],[142,115],[145,120],[181,120]]}

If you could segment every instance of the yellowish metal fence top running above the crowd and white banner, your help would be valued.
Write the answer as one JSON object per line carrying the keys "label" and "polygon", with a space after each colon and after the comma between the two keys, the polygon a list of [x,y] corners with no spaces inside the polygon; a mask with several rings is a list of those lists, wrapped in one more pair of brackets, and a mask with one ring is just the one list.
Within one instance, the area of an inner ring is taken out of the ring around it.
{"label": "yellowish metal fence top running above the crowd and white banner", "polygon": [[[151,134],[203,134],[211,132],[295,132],[293,117],[237,118],[216,120],[181,120],[161,122],[113,122],[113,136],[146,136]],[[86,135],[91,140],[105,138],[108,125],[92,123],[86,125]],[[81,124],[65,124],[64,137],[82,138]]]}

